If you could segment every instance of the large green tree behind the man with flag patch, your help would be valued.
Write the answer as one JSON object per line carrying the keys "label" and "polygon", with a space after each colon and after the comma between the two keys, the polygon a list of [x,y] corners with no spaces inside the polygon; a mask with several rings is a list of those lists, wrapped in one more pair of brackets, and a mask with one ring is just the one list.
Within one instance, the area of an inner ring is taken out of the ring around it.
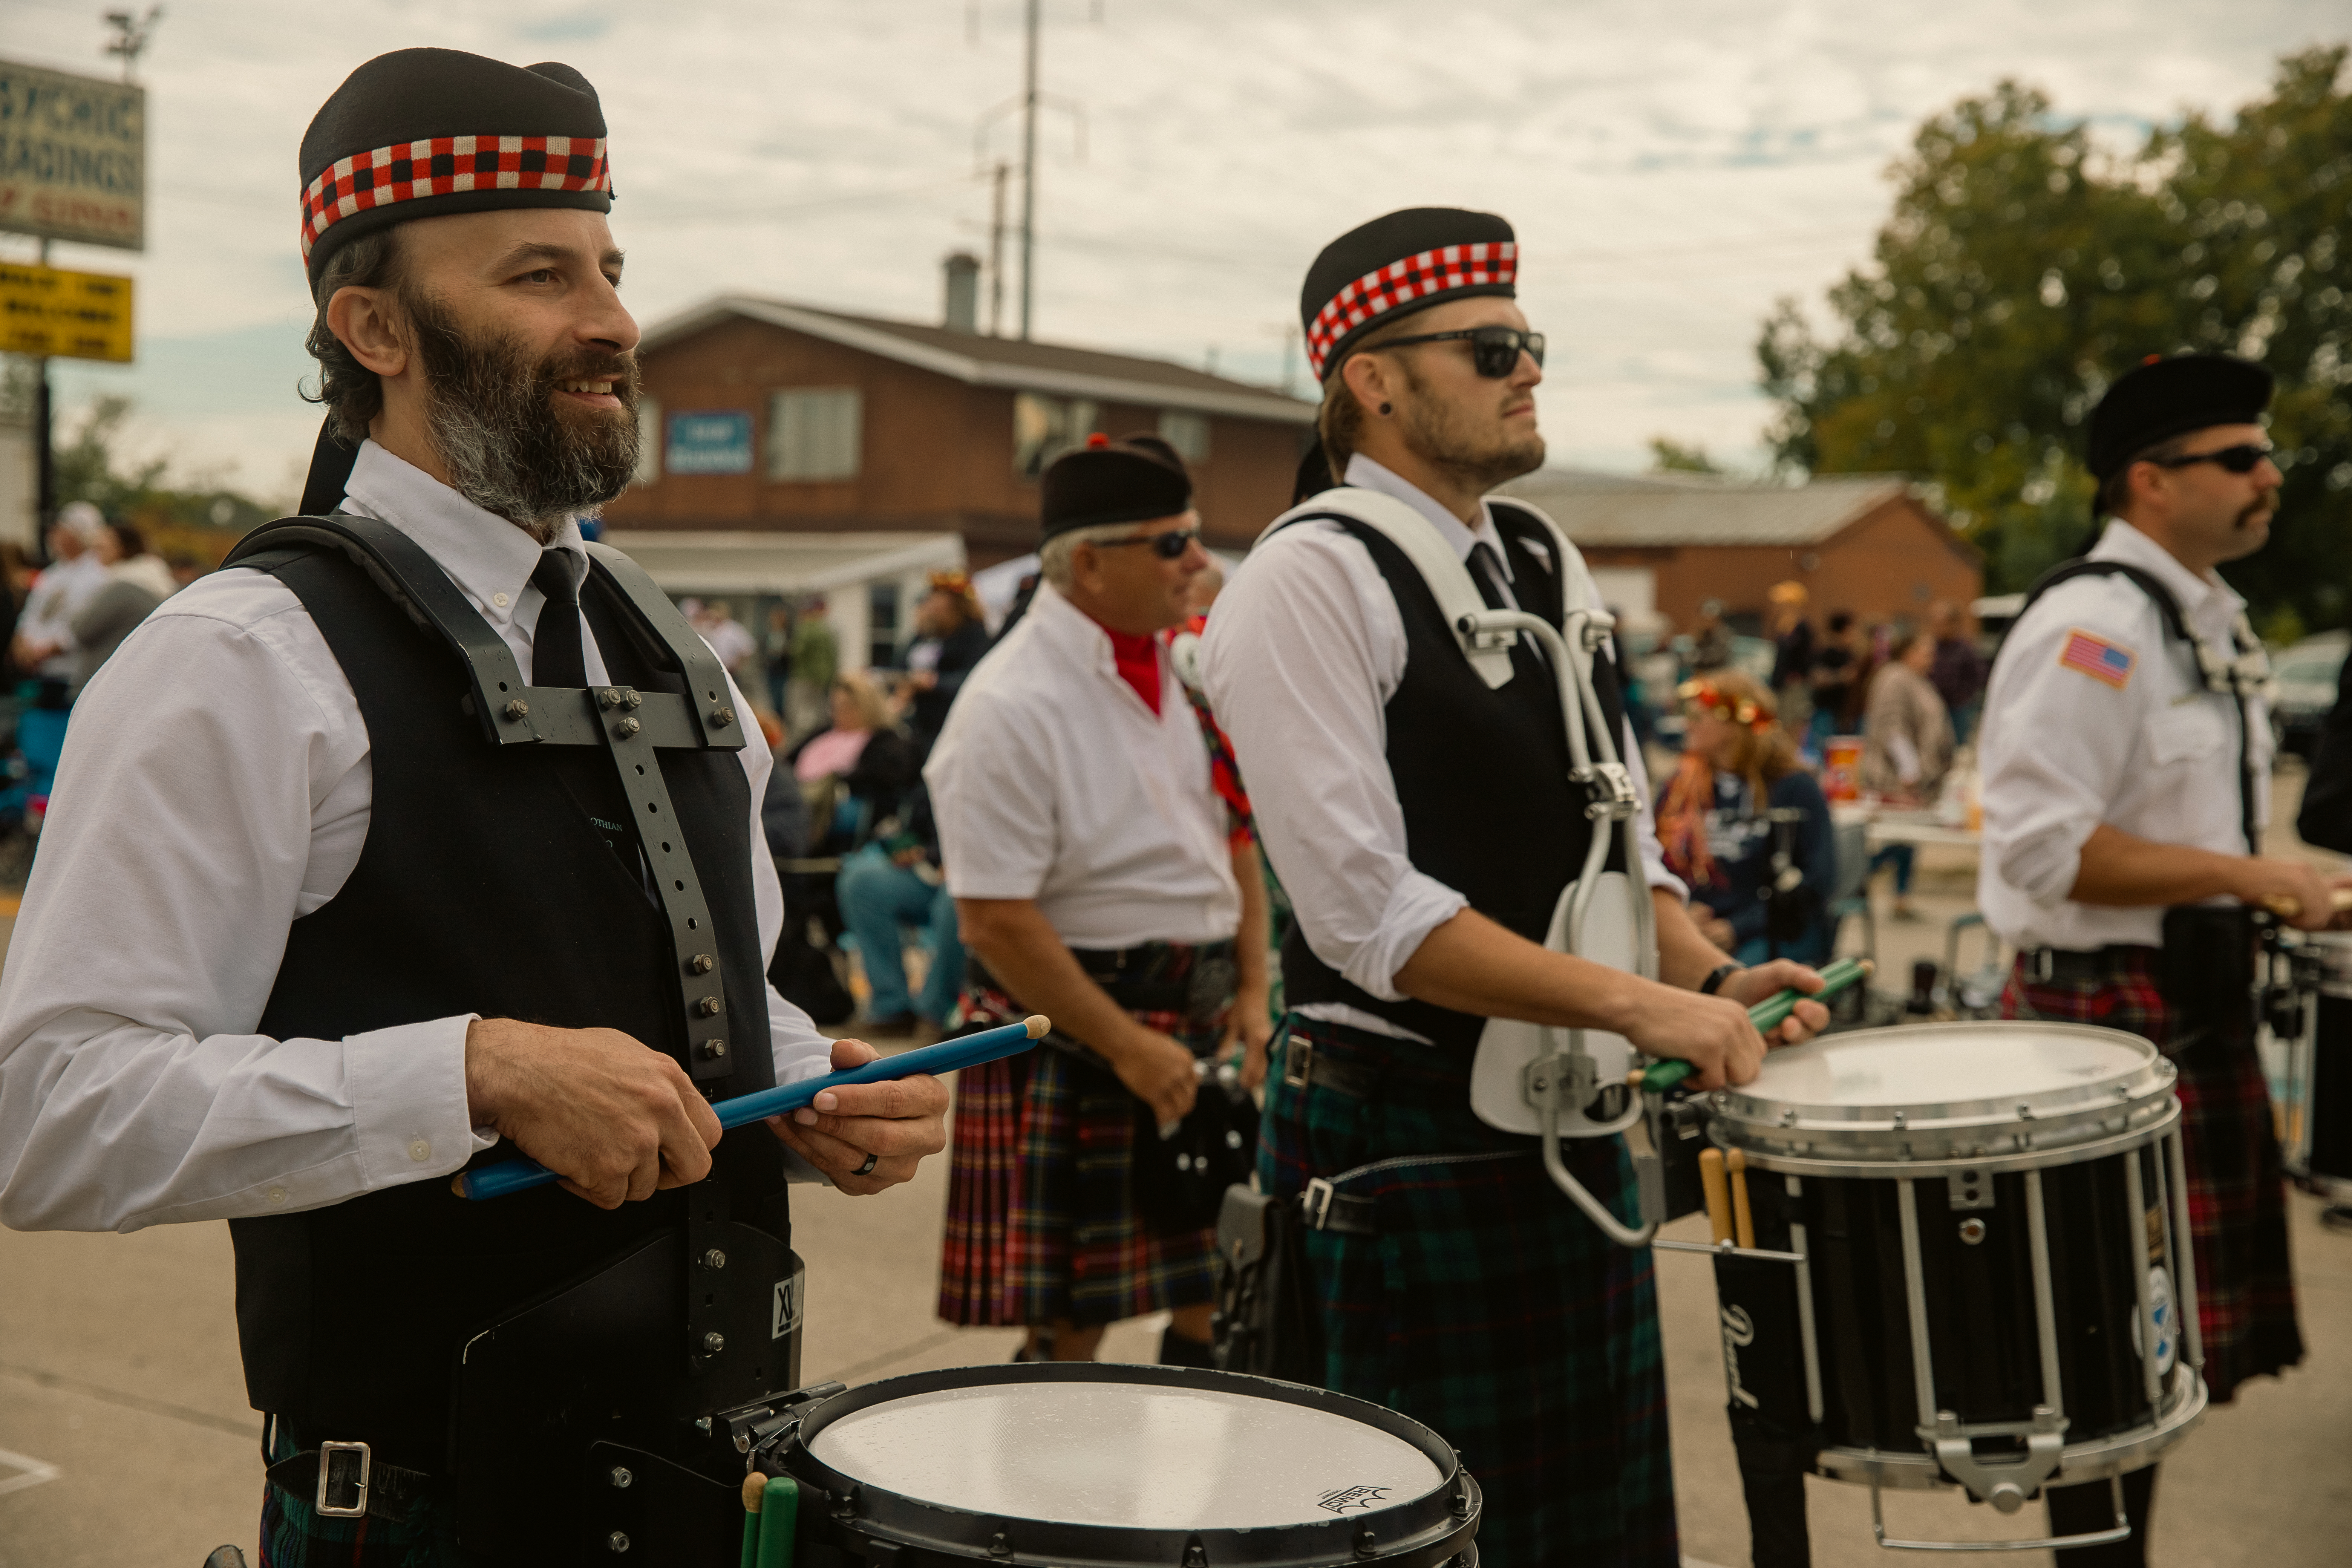
{"label": "large green tree behind the man with flag patch", "polygon": [[1931,118],[1893,169],[1875,261],[1830,289],[1832,329],[1783,301],[1757,343],[1776,461],[1912,473],[2023,588],[2091,534],[2084,418],[2150,353],[2227,348],[2279,376],[2291,456],[2272,545],[2232,569],[2270,614],[2352,614],[2352,190],[2345,49],[2279,66],[2227,125],[2190,115],[2124,158],[2002,82]]}

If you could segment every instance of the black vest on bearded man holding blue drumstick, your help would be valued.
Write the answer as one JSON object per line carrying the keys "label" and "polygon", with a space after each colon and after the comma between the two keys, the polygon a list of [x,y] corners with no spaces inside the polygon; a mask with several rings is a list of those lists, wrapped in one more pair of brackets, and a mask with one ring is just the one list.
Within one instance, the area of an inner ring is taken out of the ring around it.
{"label": "black vest on bearded man holding blue drumstick", "polygon": [[[640,816],[612,759],[597,748],[485,741],[461,661],[350,559],[313,550],[266,569],[301,597],[350,679],[374,804],[350,879],[287,933],[261,1032],[341,1039],[480,1013],[621,1030],[684,1065],[670,929],[644,886]],[[677,661],[600,569],[581,590],[581,614],[614,682],[687,689]],[[750,783],[724,750],[663,750],[659,766],[675,820],[647,832],[684,835],[736,1034],[731,1074],[699,1088],[713,1100],[769,1088]],[[513,1157],[501,1143],[470,1164]],[[734,1218],[790,1244],[774,1135],[760,1126],[729,1133],[715,1161]],[[306,1441],[365,1439],[379,1458],[437,1469],[466,1340],[684,1225],[687,1192],[607,1213],[560,1187],[470,1204],[442,1178],[233,1220],[254,1408],[285,1415]],[[680,1305],[680,1335],[682,1314]]]}

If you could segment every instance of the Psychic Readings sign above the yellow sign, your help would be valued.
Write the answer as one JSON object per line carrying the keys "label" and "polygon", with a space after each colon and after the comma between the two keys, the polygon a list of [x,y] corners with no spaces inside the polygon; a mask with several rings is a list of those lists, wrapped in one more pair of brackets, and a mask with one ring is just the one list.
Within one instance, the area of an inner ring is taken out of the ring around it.
{"label": "Psychic Readings sign above the yellow sign", "polygon": [[0,228],[146,249],[146,89],[0,61]]}

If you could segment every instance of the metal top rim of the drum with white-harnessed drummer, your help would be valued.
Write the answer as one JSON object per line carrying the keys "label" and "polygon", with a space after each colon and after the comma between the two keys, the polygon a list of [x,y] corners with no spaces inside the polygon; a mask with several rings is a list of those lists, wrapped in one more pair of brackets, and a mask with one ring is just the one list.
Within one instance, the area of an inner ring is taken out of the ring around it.
{"label": "metal top rim of the drum with white-harnessed drummer", "polygon": [[[1973,1100],[1907,1100],[1907,1103],[1879,1103],[1879,1105],[1820,1105],[1806,1100],[1778,1100],[1750,1093],[1748,1088],[1717,1088],[1710,1095],[1715,1119],[1719,1124],[1731,1124],[1738,1128],[1757,1128],[1757,1135],[1766,1143],[1783,1143],[1788,1133],[1809,1133],[1818,1140],[1835,1140],[1839,1133],[1872,1135],[1872,1133],[1945,1133],[1959,1128],[2002,1128],[2020,1121],[2030,1121],[2042,1147],[2053,1147],[2053,1138],[2070,1121],[2091,1117],[2093,1126],[2103,1124],[2117,1107],[2136,1107],[2173,1088],[2173,1065],[2157,1051],[2154,1044],[2138,1034],[2124,1030],[2105,1030],[2084,1023],[2039,1023],[2025,1018],[2011,1020],[1983,1020],[1983,1023],[1947,1023],[1931,1025],[1943,1030],[1966,1030],[1971,1034],[2070,1034],[2098,1039],[2103,1044],[2126,1046],[2140,1060],[2114,1077],[2091,1079],[2082,1084],[2067,1084],[2063,1088],[2039,1088],[2039,1091],[2011,1091],[1994,1098]],[[1919,1025],[1898,1025],[1889,1030],[1851,1030],[1842,1034],[1825,1034],[1823,1041],[1858,1041],[1867,1037],[1917,1037]],[[1816,1044],[1816,1041],[1806,1041]],[[1806,1046],[1792,1046],[1804,1051]],[[2119,1093],[2122,1091],[2122,1093]],[[2030,1117],[2018,1117],[2018,1107],[2030,1107]],[[1790,1117],[1795,1112],[1795,1117]],[[1745,1143],[1745,1140],[1740,1140]]]}

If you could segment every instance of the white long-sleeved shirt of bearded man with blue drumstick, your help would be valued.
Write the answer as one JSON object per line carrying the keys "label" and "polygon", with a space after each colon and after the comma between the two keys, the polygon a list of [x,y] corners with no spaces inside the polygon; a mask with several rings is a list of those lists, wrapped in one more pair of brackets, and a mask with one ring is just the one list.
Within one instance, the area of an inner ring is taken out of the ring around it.
{"label": "white long-sleeved shirt of bearded man with blue drumstick", "polygon": [[[343,510],[423,545],[532,670],[536,541],[374,442]],[[579,552],[579,529],[555,543]],[[602,682],[593,635],[583,654]],[[760,832],[769,766],[764,745],[743,748],[762,954],[783,929]],[[0,973],[0,1222],[294,1213],[445,1178],[496,1143],[466,1110],[473,1016],[343,1039],[254,1032],[287,926],[360,860],[372,783],[350,682],[268,574],[193,583],[106,661],[73,710]],[[830,1044],[809,1016],[774,987],[767,1006],[779,1081],[823,1072]]]}

